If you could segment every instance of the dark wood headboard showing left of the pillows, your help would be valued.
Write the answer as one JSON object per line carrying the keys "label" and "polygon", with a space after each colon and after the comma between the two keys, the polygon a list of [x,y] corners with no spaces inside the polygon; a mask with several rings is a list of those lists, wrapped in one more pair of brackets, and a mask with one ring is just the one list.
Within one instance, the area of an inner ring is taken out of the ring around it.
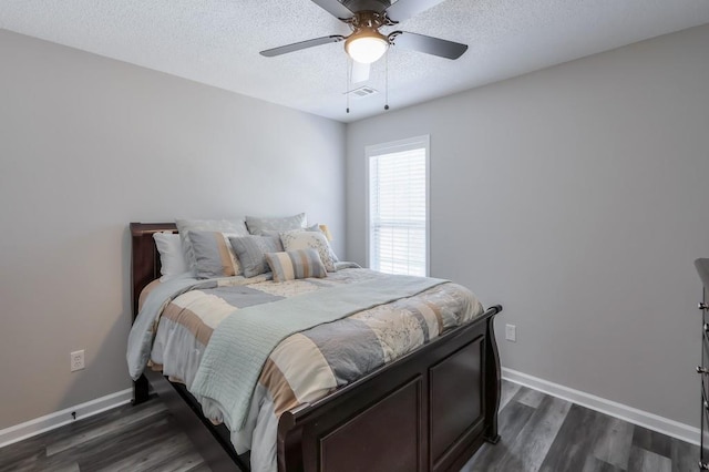
{"label": "dark wood headboard showing left of the pillows", "polygon": [[147,284],[160,278],[160,254],[153,233],[177,232],[174,223],[131,223],[131,301],[133,319],[137,316],[137,300]]}

